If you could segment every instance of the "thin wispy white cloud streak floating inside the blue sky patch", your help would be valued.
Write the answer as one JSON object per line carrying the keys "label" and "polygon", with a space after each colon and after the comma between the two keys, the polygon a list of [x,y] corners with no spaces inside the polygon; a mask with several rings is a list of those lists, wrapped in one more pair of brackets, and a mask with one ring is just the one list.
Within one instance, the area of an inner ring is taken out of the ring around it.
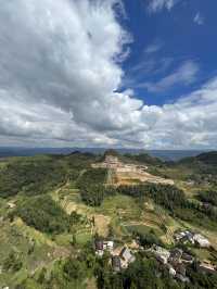
{"label": "thin wispy white cloud streak floating inside the blue sky patch", "polygon": [[140,87],[151,92],[166,91],[175,85],[189,85],[196,79],[199,65],[193,61],[186,61],[173,74],[169,74],[156,83],[144,83]]}

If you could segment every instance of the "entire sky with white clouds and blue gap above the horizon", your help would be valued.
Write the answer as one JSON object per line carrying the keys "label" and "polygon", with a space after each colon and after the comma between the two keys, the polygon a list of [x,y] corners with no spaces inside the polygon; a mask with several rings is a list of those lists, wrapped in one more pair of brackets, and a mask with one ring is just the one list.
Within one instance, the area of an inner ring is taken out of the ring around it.
{"label": "entire sky with white clouds and blue gap above the horizon", "polygon": [[0,2],[0,147],[217,149],[216,0]]}

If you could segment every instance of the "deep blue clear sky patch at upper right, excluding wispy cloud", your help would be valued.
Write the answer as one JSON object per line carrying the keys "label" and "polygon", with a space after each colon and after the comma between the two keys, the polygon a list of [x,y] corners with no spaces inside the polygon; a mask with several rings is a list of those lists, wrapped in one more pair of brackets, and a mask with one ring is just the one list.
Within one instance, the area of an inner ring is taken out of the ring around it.
{"label": "deep blue clear sky patch at upper right, excluding wispy cloud", "polygon": [[[148,104],[163,104],[196,89],[217,73],[217,1],[179,1],[170,10],[163,7],[157,11],[150,11],[148,2],[124,1],[124,25],[133,42],[123,68],[126,86],[130,84],[139,98]],[[197,66],[189,84],[180,79],[155,92],[141,87],[173,75],[184,62]]]}

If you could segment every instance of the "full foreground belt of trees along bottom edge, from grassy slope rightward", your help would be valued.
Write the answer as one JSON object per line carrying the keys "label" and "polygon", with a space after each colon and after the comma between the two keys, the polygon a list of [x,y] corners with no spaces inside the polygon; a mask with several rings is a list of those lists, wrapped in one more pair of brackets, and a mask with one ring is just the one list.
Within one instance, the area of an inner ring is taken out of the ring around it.
{"label": "full foreground belt of trees along bottom edge, from grassy slope rightward", "polygon": [[[127,269],[114,273],[110,254],[102,257],[94,254],[92,243],[88,243],[76,256],[56,261],[52,271],[41,271],[34,279],[34,288],[87,288],[87,279],[95,277],[99,289],[202,289],[216,288],[217,275],[201,274],[196,263],[187,267],[189,284],[173,279],[168,271],[152,256],[151,253],[139,252],[137,260]],[[16,289],[27,289],[29,278],[24,280]],[[31,287],[30,287],[31,288]]]}

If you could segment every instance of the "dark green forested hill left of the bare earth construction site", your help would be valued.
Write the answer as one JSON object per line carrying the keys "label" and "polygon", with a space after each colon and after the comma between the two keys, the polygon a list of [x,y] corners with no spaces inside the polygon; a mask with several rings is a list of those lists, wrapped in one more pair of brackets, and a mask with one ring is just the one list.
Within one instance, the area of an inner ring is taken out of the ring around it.
{"label": "dark green forested hill left of the bare earth construction site", "polygon": [[[9,160],[0,168],[0,197],[7,198],[18,192],[40,194],[63,185],[76,181],[81,169],[90,167],[95,156],[75,152],[69,155],[38,155]],[[91,177],[94,177],[93,174]]]}

